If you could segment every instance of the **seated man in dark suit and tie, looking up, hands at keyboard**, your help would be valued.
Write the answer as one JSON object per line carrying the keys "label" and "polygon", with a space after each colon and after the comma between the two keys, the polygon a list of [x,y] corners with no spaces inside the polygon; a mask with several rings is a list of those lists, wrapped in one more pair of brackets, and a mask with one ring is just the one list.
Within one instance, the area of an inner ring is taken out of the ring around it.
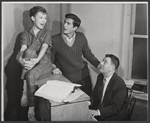
{"label": "seated man in dark suit and tie, looking up, hands at keyboard", "polygon": [[[107,54],[100,64],[100,74],[90,96],[90,115],[98,121],[123,120],[127,114],[126,85],[116,73],[119,59]],[[104,84],[103,84],[104,83]]]}

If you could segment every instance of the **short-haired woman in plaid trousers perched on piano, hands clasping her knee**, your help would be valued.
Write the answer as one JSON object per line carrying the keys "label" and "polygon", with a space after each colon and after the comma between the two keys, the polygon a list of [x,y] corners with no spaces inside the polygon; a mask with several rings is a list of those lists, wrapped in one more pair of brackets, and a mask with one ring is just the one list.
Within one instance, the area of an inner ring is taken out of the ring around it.
{"label": "short-haired woman in plaid trousers perched on piano, hands clasping her knee", "polygon": [[[21,105],[28,103],[28,119],[35,119],[35,97],[39,79],[52,74],[61,74],[58,68],[51,63],[51,33],[44,29],[47,22],[47,12],[41,6],[35,6],[29,11],[33,26],[30,30],[24,31],[21,36],[21,49],[17,60],[23,66],[22,79],[24,79],[24,90]],[[25,76],[24,76],[25,75]],[[27,85],[26,85],[27,84]],[[26,87],[27,86],[27,87]],[[26,89],[27,88],[27,89]],[[27,100],[28,97],[28,100]]]}

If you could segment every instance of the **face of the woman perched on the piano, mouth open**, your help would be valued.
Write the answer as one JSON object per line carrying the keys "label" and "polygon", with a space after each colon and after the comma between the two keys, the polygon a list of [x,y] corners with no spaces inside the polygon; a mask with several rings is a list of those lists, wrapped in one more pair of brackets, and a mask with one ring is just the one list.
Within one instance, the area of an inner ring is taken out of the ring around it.
{"label": "face of the woman perched on the piano, mouth open", "polygon": [[38,12],[35,17],[32,16],[32,20],[34,22],[34,26],[36,26],[38,29],[43,29],[47,22],[47,14]]}

